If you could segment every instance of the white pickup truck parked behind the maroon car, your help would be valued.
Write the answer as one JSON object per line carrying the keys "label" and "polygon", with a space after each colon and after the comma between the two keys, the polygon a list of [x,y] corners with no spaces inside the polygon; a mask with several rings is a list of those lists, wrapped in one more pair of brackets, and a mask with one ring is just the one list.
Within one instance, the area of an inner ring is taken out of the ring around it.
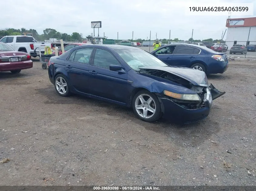
{"label": "white pickup truck parked behind the maroon car", "polygon": [[2,43],[6,43],[11,46],[15,51],[29,53],[30,56],[34,58],[39,56],[39,49],[41,49],[41,53],[45,53],[45,46],[50,46],[52,48],[51,43],[38,43],[31,36],[5,36],[0,40]]}

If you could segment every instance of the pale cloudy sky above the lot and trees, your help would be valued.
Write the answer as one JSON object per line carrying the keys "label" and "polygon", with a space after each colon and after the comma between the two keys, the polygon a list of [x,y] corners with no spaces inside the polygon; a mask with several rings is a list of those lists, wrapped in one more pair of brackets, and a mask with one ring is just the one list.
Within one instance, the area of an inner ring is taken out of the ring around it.
{"label": "pale cloudy sky above the lot and trees", "polygon": [[[1,29],[22,27],[36,29],[39,34],[45,28],[61,33],[93,33],[91,21],[101,21],[99,36],[108,39],[127,40],[171,39],[203,40],[221,39],[226,29],[225,15],[189,15],[189,6],[208,7],[205,0],[43,0],[40,5],[32,0],[8,0],[1,2]],[[191,4],[192,3],[192,4]],[[214,6],[231,6],[232,3],[253,3],[253,15],[233,15],[231,18],[256,17],[256,0],[214,0]],[[242,5],[242,4],[241,4]],[[251,8],[251,7],[250,7]],[[95,29],[98,36],[98,29]],[[225,35],[226,36],[226,35]],[[224,40],[225,40],[224,36]]]}

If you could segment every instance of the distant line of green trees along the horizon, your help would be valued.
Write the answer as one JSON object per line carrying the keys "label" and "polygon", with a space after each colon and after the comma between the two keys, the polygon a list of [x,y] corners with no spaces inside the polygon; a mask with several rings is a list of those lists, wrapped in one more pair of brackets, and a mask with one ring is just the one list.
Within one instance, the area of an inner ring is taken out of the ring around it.
{"label": "distant line of green trees along the horizon", "polygon": [[[38,34],[38,32],[35,29],[25,29],[25,28],[21,28],[21,29],[14,29],[14,28],[7,28],[5,30],[0,30],[0,37],[4,37],[4,36],[9,36],[9,35],[22,35],[23,33],[32,33],[33,37],[38,40],[38,41],[44,41],[44,40],[49,40],[51,38],[56,38],[58,40],[63,39],[64,41],[79,41],[81,42],[82,40],[84,40],[82,34],[78,33],[78,32],[73,32],[72,34],[67,34],[67,33],[61,33],[58,32],[55,29],[52,28],[46,28],[45,30],[43,30],[43,34]],[[90,36],[90,35],[89,35]],[[150,41],[150,39],[145,40],[145,39],[128,39],[129,41],[132,42],[140,42],[142,43],[143,41]],[[154,39],[155,40],[155,39]],[[163,44],[167,44],[169,42],[169,39],[159,39],[159,41],[161,41]],[[174,42],[184,42],[187,40],[179,40],[178,38],[175,39],[170,39],[170,41],[174,41]],[[189,38],[188,41],[190,42],[225,42],[223,40],[213,40],[212,38],[209,39],[204,39],[204,40],[194,40],[192,38]]]}

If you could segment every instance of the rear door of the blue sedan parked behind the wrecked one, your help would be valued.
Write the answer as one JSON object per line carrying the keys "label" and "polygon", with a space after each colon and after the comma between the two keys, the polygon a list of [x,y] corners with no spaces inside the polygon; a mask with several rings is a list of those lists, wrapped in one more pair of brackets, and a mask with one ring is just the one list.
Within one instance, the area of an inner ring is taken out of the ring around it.
{"label": "rear door of the blue sedan parked behind the wrecked one", "polygon": [[178,45],[172,57],[172,65],[181,67],[190,67],[191,62],[196,60],[200,49],[194,46]]}

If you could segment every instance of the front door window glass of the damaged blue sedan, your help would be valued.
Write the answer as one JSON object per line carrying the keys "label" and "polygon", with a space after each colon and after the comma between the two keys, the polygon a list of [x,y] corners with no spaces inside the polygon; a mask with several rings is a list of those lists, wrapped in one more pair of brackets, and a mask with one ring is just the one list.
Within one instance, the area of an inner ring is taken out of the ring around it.
{"label": "front door window glass of the damaged blue sedan", "polygon": [[117,59],[107,50],[96,49],[93,65],[109,68],[110,65],[120,65]]}

